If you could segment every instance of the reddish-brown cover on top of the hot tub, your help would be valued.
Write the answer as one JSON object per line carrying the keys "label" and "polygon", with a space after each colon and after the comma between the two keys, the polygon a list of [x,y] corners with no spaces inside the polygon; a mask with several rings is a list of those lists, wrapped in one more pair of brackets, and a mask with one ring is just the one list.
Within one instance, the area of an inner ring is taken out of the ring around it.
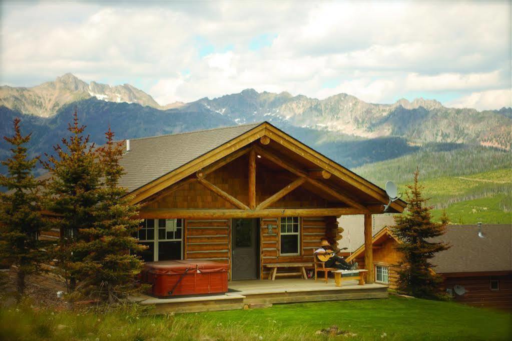
{"label": "reddish-brown cover on top of the hot tub", "polygon": [[[144,264],[145,272],[156,275],[180,275],[200,274],[201,272],[222,272],[227,271],[227,263],[212,262],[207,260],[174,260],[161,262],[147,262]],[[188,269],[188,271],[187,271]]]}

